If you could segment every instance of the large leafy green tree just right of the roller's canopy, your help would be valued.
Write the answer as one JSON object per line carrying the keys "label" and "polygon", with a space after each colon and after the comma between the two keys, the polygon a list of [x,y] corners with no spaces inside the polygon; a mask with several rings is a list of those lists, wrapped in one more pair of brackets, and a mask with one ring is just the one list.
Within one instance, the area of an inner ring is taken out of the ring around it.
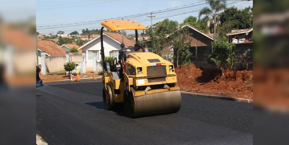
{"label": "large leafy green tree just right of the roller's canopy", "polygon": [[[170,34],[170,36],[166,38],[166,34]],[[150,37],[150,41],[145,42],[145,45],[146,48],[150,48],[153,53],[163,57],[163,49],[171,45],[174,52],[177,53],[177,64],[179,59],[183,64],[191,61],[190,57],[192,54],[189,52],[189,46],[186,44],[186,42],[192,40],[189,37],[191,34],[189,33],[188,27],[181,29],[177,21],[165,19],[164,21],[156,23],[154,27],[150,27],[147,30],[147,35]]]}

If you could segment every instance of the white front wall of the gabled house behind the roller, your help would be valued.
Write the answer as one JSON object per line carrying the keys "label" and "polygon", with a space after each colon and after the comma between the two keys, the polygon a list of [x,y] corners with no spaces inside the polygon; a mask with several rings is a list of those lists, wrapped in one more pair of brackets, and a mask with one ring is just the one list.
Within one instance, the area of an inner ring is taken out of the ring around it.
{"label": "white front wall of the gabled house behind the roller", "polygon": [[[104,47],[104,55],[109,56],[109,52],[111,50],[120,50],[120,44],[113,39],[103,35],[103,47]],[[86,51],[86,67],[93,67],[93,59],[88,60],[88,52],[87,50],[98,50],[100,52],[100,38],[93,41],[91,44],[88,44],[84,47],[84,51]],[[99,58],[97,58],[97,62],[100,62],[101,56],[99,53]]]}

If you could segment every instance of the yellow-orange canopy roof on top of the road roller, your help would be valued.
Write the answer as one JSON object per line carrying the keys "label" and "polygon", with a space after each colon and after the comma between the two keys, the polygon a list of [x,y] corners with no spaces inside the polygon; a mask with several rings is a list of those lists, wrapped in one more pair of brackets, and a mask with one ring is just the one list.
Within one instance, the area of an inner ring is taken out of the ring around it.
{"label": "yellow-orange canopy roof on top of the road roller", "polygon": [[147,30],[145,26],[136,21],[130,20],[105,20],[100,24],[104,28],[111,31],[119,30]]}

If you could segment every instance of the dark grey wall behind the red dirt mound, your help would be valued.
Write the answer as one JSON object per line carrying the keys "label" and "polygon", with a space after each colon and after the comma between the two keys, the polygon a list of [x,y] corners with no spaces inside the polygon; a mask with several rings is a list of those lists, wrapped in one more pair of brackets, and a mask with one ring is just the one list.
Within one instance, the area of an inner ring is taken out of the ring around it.
{"label": "dark grey wall behind the red dirt mound", "polygon": [[[250,49],[249,57],[248,59],[248,69],[253,70],[253,42],[247,42],[242,44],[235,44],[235,54],[236,56],[240,56],[240,54],[246,52],[248,49]],[[209,64],[206,58],[212,54],[212,47],[211,46],[197,46],[197,52],[196,47],[190,47],[190,52],[193,54],[191,57],[192,63],[196,64],[197,68],[205,68],[205,69],[219,69],[215,64]],[[197,55],[196,55],[197,54]],[[181,61],[178,62],[178,64],[181,64]],[[176,59],[174,59],[174,65],[176,66]],[[243,66],[237,66],[237,68],[246,68],[245,65]]]}

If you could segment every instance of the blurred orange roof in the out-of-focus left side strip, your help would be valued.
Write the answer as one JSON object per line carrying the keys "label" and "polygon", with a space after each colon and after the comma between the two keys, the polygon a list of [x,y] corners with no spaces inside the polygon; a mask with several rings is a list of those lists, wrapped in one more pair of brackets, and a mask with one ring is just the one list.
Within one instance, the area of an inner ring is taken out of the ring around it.
{"label": "blurred orange roof in the out-of-focus left side strip", "polygon": [[16,49],[33,50],[36,48],[35,37],[30,37],[24,31],[9,26],[0,27],[0,41],[14,46]]}

